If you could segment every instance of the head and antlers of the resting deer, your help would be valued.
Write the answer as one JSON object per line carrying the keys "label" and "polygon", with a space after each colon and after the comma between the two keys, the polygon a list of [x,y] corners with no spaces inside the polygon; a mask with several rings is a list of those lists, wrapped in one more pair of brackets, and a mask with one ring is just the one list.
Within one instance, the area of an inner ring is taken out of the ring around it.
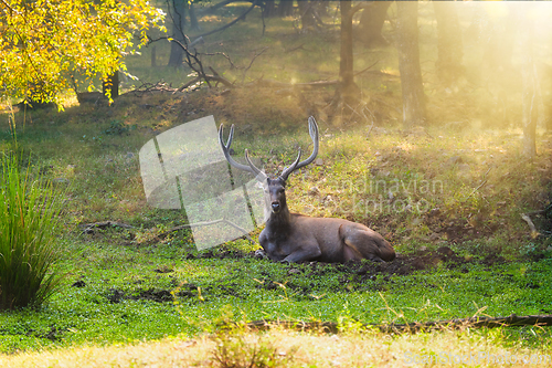
{"label": "head and antlers of the resting deer", "polygon": [[309,135],[314,144],[312,154],[310,154],[310,156],[306,160],[300,161],[301,149],[299,148],[299,154],[297,155],[296,160],[289,167],[286,167],[282,171],[282,174],[275,179],[270,179],[265,172],[259,170],[251,161],[247,149],[245,149],[245,160],[247,161],[247,165],[236,162],[232,158],[232,156],[230,156],[230,145],[232,144],[232,138],[234,137],[234,125],[232,125],[232,127],[230,128],[230,135],[226,144],[224,144],[223,140],[223,125],[221,125],[219,129],[219,143],[221,144],[224,157],[226,157],[226,160],[229,161],[230,165],[240,170],[245,170],[254,174],[256,179],[263,183],[266,193],[265,197],[266,209],[269,209],[272,213],[277,214],[280,212],[288,212],[286,203],[286,192],[285,192],[287,178],[295,170],[298,170],[301,167],[305,167],[310,162],[312,162],[316,156],[318,155],[318,125],[316,124],[316,120],[312,116],[309,117],[308,125],[309,125]]}

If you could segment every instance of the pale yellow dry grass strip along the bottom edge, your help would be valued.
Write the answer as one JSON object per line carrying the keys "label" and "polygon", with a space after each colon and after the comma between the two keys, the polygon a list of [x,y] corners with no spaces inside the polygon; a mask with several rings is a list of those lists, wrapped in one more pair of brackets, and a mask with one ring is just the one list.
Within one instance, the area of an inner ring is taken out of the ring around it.
{"label": "pale yellow dry grass strip along the bottom edge", "polygon": [[[539,332],[535,333],[539,335]],[[44,366],[173,366],[173,367],[232,367],[235,356],[220,359],[224,348],[247,357],[272,357],[266,365],[253,367],[405,367],[414,364],[496,367],[545,366],[550,361],[550,345],[520,348],[513,340],[519,334],[508,329],[440,332],[416,335],[382,335],[375,332],[340,335],[305,334],[272,330],[264,334],[240,333],[237,341],[221,341],[216,336],[194,339],[166,338],[157,341],[135,343],[126,346],[78,347],[42,354],[26,353],[6,360],[10,367]],[[512,341],[501,347],[505,341]],[[237,345],[237,346],[236,346]],[[276,353],[276,354],[274,354]],[[274,354],[274,355],[273,355]],[[429,360],[433,359],[433,360]],[[437,360],[438,359],[438,360]],[[533,360],[531,360],[533,359]],[[223,362],[220,362],[220,361]],[[425,361],[424,361],[425,360]],[[251,361],[251,360],[250,360]],[[257,358],[253,361],[259,362]],[[265,360],[266,361],[266,360]]]}

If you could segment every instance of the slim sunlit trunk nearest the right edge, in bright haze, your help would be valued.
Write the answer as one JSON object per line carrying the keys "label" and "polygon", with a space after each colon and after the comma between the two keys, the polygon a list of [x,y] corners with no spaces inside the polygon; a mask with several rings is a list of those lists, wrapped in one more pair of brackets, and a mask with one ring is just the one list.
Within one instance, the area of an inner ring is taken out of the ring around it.
{"label": "slim sunlit trunk nearest the right edge, in bright haze", "polygon": [[535,88],[535,67],[533,60],[533,30],[534,24],[529,19],[528,7],[519,7],[518,11],[521,17],[520,29],[522,61],[521,61],[521,109],[523,123],[523,156],[533,158],[537,156],[537,88]]}

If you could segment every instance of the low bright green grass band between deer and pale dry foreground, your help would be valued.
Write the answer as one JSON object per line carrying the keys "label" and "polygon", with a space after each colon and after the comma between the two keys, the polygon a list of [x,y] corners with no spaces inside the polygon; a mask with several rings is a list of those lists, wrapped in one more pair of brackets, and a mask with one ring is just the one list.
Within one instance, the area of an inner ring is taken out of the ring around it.
{"label": "low bright green grass band between deer and pale dry foreground", "polygon": [[[68,275],[61,292],[39,312],[0,315],[2,353],[191,337],[229,318],[337,322],[347,316],[362,323],[402,323],[543,314],[552,303],[550,259],[362,280],[339,265],[320,265],[312,275],[312,266],[305,264],[187,260],[181,246],[110,243],[63,244],[67,256],[57,270]],[[163,269],[170,272],[156,272]],[[290,274],[290,269],[299,273]],[[85,286],[72,286],[77,281]],[[114,299],[115,291],[124,296]],[[136,299],[151,291],[177,296],[163,303]],[[540,337],[548,334],[549,328],[539,329]],[[531,341],[528,337],[527,346]]]}

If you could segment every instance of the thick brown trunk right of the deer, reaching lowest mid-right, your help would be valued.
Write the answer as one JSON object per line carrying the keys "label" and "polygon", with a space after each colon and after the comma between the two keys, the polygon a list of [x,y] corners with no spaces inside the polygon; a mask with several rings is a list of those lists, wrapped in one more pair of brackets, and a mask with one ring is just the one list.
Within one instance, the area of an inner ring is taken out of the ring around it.
{"label": "thick brown trunk right of the deer, reaching lowest mid-right", "polygon": [[425,124],[425,95],[420,67],[417,1],[397,1],[399,71],[403,92],[403,125]]}

